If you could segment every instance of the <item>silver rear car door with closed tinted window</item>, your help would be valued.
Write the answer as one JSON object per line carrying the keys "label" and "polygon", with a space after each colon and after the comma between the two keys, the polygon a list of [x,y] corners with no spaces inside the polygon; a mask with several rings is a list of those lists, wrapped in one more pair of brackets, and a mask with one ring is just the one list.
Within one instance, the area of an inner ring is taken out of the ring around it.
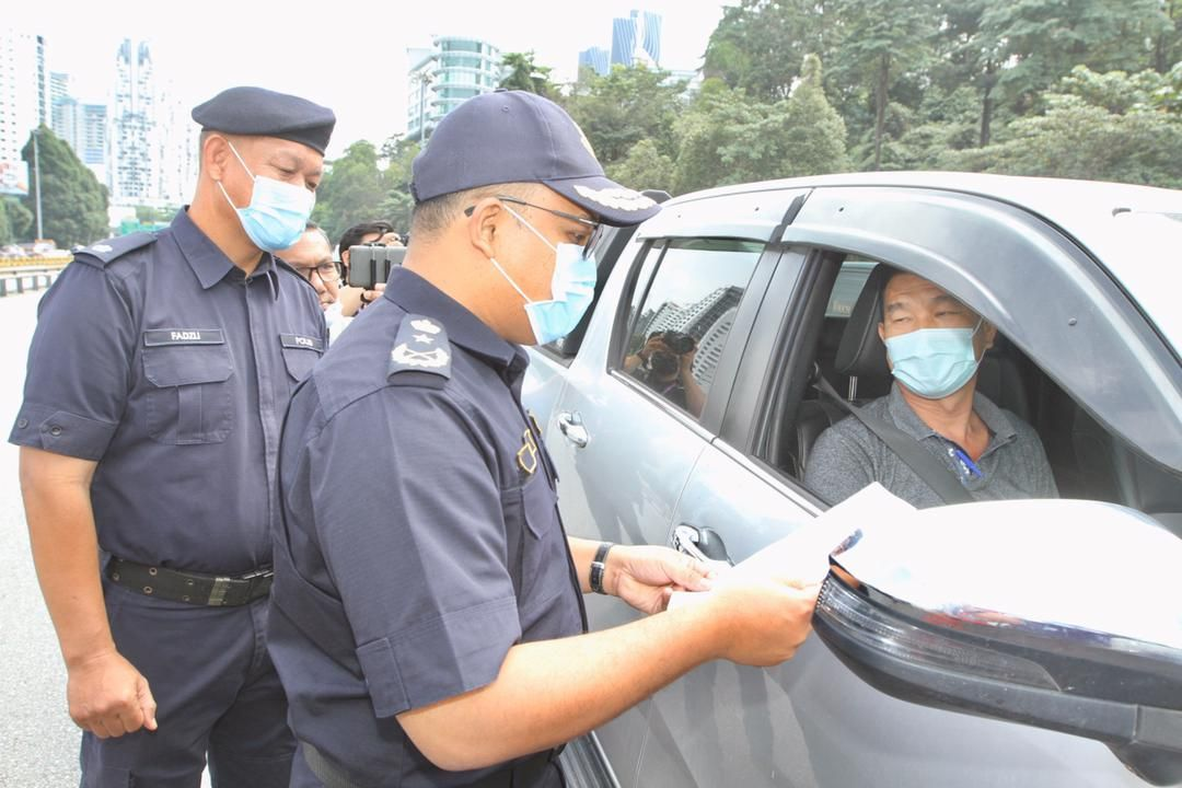
{"label": "silver rear car door with closed tinted window", "polygon": [[[597,310],[544,428],[569,534],[664,542],[686,478],[729,395],[732,376],[719,370],[736,364],[741,344],[732,347],[729,338],[758,306],[745,294],[756,271],[774,263],[762,250],[762,241],[648,239],[632,245],[626,265],[616,266],[600,299],[621,308]],[[696,347],[684,363],[704,406],[642,375],[651,370],[637,365],[637,352],[649,336],[663,332],[693,338]],[[589,595],[586,603],[597,630],[639,616],[616,599]],[[645,711],[641,704],[597,731],[625,788],[643,784],[634,780]]]}

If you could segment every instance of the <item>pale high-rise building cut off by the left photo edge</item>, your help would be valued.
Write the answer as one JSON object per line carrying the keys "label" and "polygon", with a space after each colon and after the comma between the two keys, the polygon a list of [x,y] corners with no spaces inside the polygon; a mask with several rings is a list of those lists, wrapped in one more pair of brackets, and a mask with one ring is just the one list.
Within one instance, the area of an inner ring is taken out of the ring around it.
{"label": "pale high-rise building cut off by the left photo edge", "polygon": [[0,193],[27,189],[20,151],[30,132],[50,121],[45,40],[0,28]]}

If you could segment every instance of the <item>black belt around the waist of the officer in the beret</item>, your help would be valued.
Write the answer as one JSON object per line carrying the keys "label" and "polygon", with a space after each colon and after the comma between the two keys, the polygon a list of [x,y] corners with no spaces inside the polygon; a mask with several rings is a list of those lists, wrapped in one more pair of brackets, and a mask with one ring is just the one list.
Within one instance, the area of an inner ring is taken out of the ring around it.
{"label": "black belt around the waist of the officer in the beret", "polygon": [[158,597],[190,605],[230,607],[247,605],[271,593],[274,572],[266,568],[236,577],[201,574],[111,556],[106,564],[106,577],[111,582],[145,597]]}

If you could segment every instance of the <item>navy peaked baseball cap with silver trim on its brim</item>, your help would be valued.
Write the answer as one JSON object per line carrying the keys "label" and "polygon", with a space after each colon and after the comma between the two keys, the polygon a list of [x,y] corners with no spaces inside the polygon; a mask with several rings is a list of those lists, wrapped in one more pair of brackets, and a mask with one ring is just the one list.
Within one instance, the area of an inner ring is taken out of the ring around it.
{"label": "navy peaked baseball cap with silver trim on its brim", "polygon": [[661,207],[608,178],[583,130],[547,98],[511,90],[469,98],[440,121],[411,164],[424,202],[496,183],[544,183],[608,224],[638,224]]}

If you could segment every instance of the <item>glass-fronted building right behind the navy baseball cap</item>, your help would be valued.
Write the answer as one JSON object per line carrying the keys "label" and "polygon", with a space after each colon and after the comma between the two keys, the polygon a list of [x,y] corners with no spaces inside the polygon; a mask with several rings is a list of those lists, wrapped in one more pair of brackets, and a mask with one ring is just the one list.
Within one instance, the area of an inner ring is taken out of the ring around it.
{"label": "glass-fronted building right behind the navy baseball cap", "polygon": [[408,48],[407,136],[426,139],[444,115],[501,82],[501,52],[475,38],[437,35],[430,48]]}

